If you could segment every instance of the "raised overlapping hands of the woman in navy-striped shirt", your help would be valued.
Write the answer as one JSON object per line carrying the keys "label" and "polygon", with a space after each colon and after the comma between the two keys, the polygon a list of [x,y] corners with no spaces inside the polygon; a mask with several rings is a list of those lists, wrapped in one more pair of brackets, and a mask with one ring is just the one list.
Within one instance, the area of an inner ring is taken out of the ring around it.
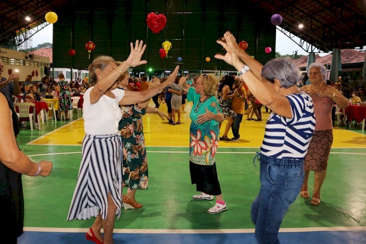
{"label": "raised overlapping hands of the woman in navy-striped shirt", "polygon": [[[239,48],[238,43],[235,40],[235,37],[233,34],[231,34],[230,31],[226,31],[224,34],[224,37],[217,40],[217,43],[223,46],[223,48],[226,50],[226,54],[216,54],[215,58],[219,60],[224,60],[228,64],[231,64],[233,66],[236,66],[238,63],[241,63],[239,57],[237,56],[236,52],[242,51]],[[240,64],[239,64],[240,65]]]}

